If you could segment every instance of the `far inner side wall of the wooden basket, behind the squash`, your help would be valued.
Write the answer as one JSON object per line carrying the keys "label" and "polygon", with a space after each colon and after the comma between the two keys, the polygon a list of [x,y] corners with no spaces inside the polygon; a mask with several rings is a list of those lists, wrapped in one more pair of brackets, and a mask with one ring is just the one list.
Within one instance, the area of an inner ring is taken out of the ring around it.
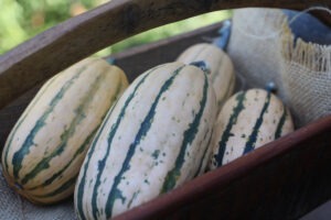
{"label": "far inner side wall of the wooden basket, behind the squash", "polygon": [[173,62],[189,46],[196,43],[212,43],[218,37],[217,31],[222,22],[197,29],[195,31],[157,41],[132,50],[111,55],[114,64],[119,66],[127,74],[129,81],[132,81],[143,72],[169,62]]}

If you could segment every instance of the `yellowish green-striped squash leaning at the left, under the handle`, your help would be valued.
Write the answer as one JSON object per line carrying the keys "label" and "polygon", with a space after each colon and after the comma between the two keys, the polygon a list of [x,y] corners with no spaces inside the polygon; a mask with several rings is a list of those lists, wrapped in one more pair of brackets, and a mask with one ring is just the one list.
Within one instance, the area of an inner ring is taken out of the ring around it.
{"label": "yellowish green-striped squash leaning at the left, under the handle", "polygon": [[94,134],[127,87],[124,72],[99,58],[86,58],[47,80],[3,148],[9,185],[35,204],[72,195]]}

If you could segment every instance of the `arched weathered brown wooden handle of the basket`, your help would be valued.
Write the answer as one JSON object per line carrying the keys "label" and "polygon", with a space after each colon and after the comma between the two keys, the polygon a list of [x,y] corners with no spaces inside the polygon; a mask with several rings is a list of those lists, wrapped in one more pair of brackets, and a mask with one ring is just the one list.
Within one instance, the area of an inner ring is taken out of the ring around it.
{"label": "arched weathered brown wooden handle of the basket", "polygon": [[[156,26],[234,8],[306,9],[293,0],[113,0],[70,19],[0,57],[0,109],[34,85],[90,54]],[[330,0],[321,0],[331,7]]]}

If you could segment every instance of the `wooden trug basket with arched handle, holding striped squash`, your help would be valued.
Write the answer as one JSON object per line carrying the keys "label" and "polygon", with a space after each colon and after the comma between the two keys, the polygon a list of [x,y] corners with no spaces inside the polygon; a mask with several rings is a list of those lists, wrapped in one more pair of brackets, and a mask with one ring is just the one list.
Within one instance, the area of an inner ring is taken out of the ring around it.
{"label": "wooden trug basket with arched handle, holding striped squash", "polygon": [[[73,18],[0,57],[1,146],[44,80],[100,48],[145,30],[209,11],[284,6],[306,9],[312,3],[114,0]],[[323,3],[331,7],[328,0]],[[132,80],[152,66],[174,61],[201,36],[215,35],[221,25],[113,57]],[[161,56],[161,52],[167,52],[167,56]],[[330,134],[331,117],[320,119],[115,219],[297,219],[331,198]]]}

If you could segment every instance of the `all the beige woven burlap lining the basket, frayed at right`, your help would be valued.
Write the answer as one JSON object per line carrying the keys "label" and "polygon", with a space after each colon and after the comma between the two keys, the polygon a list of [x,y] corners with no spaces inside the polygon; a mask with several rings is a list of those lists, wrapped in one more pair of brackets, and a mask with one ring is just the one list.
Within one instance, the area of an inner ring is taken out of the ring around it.
{"label": "all the beige woven burlap lining the basket, frayed at right", "polygon": [[[297,127],[331,112],[331,46],[296,40],[281,10],[241,9],[233,19],[228,54],[245,87],[274,81]],[[330,37],[331,40],[331,37]],[[0,220],[75,219],[72,198],[38,207],[4,182],[0,166]]]}

